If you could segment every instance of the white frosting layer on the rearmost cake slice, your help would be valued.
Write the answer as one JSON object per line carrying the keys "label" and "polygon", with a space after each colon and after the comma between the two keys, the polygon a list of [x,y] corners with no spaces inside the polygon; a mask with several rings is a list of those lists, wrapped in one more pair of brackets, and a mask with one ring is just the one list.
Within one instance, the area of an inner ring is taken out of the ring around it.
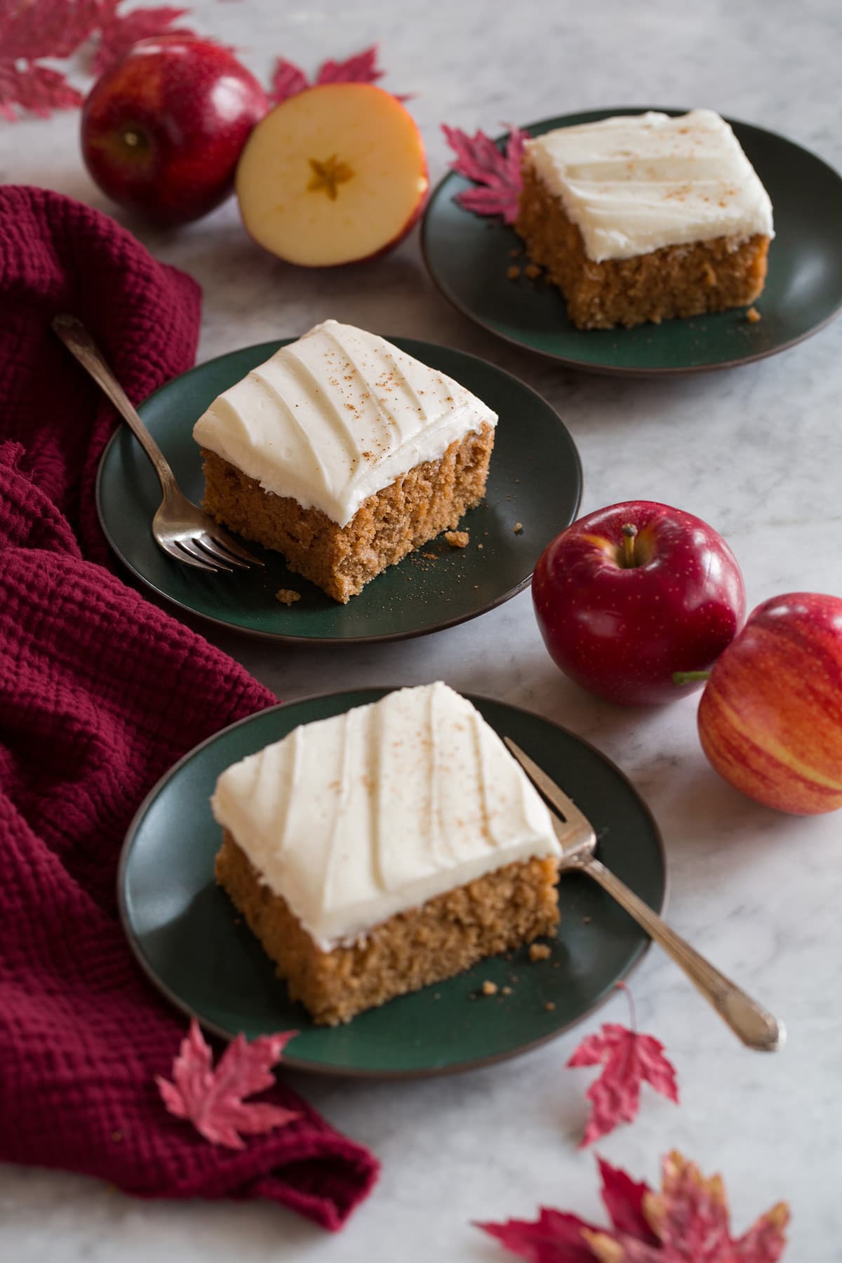
{"label": "white frosting layer on the rearmost cake slice", "polygon": [[713,110],[557,128],[529,140],[526,154],[595,263],[718,236],[774,236],[769,195]]}

